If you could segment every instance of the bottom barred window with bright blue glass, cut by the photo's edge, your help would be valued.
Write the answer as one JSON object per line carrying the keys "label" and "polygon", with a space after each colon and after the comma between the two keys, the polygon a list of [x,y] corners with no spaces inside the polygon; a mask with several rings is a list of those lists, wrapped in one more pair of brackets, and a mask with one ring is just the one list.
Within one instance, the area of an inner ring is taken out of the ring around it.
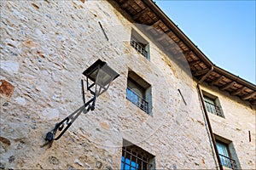
{"label": "bottom barred window with bright blue glass, cut by the photo's edge", "polygon": [[[125,143],[129,143],[125,141]],[[125,145],[125,144],[124,144]],[[122,148],[121,170],[155,169],[154,156],[134,144]]]}

